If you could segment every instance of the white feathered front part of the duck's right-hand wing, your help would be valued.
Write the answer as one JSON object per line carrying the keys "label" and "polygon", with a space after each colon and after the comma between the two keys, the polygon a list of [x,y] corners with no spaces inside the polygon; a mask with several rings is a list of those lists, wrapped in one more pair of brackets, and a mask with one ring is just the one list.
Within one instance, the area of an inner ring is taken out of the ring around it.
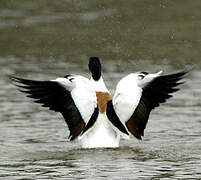
{"label": "white feathered front part of the duck's right-hand wing", "polygon": [[142,88],[161,73],[162,71],[148,74],[143,80],[139,79],[138,73],[131,73],[119,81],[112,103],[117,116],[124,126],[139,104]]}

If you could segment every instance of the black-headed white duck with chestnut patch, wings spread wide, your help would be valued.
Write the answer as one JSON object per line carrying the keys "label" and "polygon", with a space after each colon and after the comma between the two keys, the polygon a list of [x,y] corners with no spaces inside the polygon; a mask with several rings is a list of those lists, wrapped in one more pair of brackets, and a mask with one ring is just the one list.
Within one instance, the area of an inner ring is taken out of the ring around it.
{"label": "black-headed white duck with chestnut patch, wings spread wide", "polygon": [[68,140],[82,148],[117,148],[121,139],[142,140],[151,111],[179,90],[187,74],[130,73],[118,82],[112,96],[100,59],[90,57],[88,68],[90,79],[75,74],[43,81],[10,76],[27,97],[60,112],[69,129]]}

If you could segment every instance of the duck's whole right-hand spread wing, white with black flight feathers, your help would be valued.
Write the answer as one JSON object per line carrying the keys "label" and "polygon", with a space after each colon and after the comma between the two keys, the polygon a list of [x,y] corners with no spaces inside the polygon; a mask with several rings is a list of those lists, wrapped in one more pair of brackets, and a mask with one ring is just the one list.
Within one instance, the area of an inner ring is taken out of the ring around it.
{"label": "duck's whole right-hand spread wing, white with black flight feathers", "polygon": [[[144,135],[144,129],[152,109],[172,97],[182,84],[180,80],[187,72],[170,75],[142,73],[140,81],[136,74],[124,77],[117,85],[112,100],[114,111],[128,131],[137,139]],[[136,81],[138,81],[136,83]]]}

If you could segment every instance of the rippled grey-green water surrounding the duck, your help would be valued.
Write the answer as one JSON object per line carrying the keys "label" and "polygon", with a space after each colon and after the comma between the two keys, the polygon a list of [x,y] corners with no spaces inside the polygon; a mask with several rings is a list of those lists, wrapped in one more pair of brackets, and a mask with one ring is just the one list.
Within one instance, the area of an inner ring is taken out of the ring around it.
{"label": "rippled grey-green water surrounding the duck", "polygon": [[[201,179],[200,1],[1,1],[0,179]],[[117,149],[67,142],[60,114],[16,90],[6,75],[87,74],[100,56],[112,93],[135,71],[193,70],[155,109],[143,141]]]}

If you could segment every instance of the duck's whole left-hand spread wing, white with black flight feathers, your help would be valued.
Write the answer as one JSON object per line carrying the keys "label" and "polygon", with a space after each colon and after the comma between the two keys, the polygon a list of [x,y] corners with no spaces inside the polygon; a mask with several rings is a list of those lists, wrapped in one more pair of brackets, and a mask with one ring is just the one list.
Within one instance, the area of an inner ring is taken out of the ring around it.
{"label": "duck's whole left-hand spread wing, white with black flight feathers", "polygon": [[12,76],[11,80],[21,92],[28,94],[27,97],[63,115],[70,130],[70,140],[88,130],[89,125],[91,127],[97,119],[95,92],[90,86],[90,81],[82,76],[67,75],[65,78],[50,81]]}

